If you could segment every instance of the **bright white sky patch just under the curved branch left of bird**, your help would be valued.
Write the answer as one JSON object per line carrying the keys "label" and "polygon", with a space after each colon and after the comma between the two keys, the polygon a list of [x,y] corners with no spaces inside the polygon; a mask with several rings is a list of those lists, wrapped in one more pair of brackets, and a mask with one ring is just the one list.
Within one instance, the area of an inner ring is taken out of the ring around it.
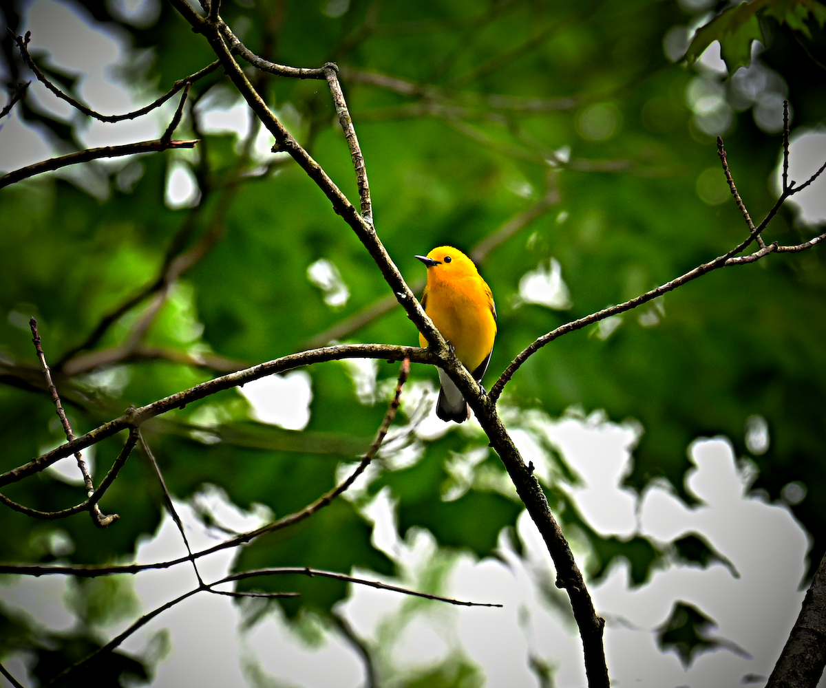
{"label": "bright white sky patch just under the curved branch left of bird", "polygon": [[283,377],[262,377],[238,387],[238,391],[252,406],[255,420],[288,430],[304,429],[310,422],[311,378],[302,370]]}

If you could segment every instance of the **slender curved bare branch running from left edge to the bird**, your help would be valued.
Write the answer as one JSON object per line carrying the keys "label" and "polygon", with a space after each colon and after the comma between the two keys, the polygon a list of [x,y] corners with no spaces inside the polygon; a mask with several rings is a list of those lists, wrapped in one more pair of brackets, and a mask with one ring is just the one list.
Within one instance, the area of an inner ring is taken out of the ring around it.
{"label": "slender curved bare branch running from left edge to the bird", "polygon": [[99,442],[101,439],[112,437],[113,434],[121,430],[140,426],[146,420],[154,418],[156,415],[166,413],[173,408],[183,408],[192,401],[203,399],[206,396],[215,394],[216,391],[239,387],[246,382],[258,380],[260,377],[267,377],[276,372],[285,372],[293,368],[311,365],[313,363],[323,363],[324,361],[338,360],[342,358],[384,358],[388,361],[401,361],[403,358],[410,358],[414,363],[437,363],[439,358],[429,349],[420,349],[415,346],[396,346],[393,344],[339,344],[338,346],[324,347],[321,349],[311,349],[301,353],[292,353],[282,358],[276,358],[267,363],[259,363],[252,368],[244,368],[238,372],[231,372],[228,375],[216,377],[196,387],[179,391],[171,396],[154,401],[148,406],[139,409],[129,409],[124,415],[110,420],[108,423],[100,425],[91,432],[84,434],[73,441],[62,444],[56,449],[33,459],[23,466],[12,468],[11,471],[0,474],[0,487],[12,482],[18,482],[26,476],[33,475],[50,466],[55,461],[69,456],[80,449]]}

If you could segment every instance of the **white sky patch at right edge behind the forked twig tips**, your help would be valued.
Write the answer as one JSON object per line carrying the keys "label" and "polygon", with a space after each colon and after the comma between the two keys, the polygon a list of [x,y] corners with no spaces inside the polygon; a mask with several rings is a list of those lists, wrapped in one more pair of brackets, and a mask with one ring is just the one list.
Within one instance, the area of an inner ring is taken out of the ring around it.
{"label": "white sky patch at right edge behind the forked twig tips", "polygon": [[[789,181],[805,183],[826,161],[826,130],[799,130],[789,144]],[[783,179],[783,158],[773,176],[776,196],[780,196]],[[815,179],[788,201],[797,206],[798,218],[809,225],[826,222],[826,173]]]}

